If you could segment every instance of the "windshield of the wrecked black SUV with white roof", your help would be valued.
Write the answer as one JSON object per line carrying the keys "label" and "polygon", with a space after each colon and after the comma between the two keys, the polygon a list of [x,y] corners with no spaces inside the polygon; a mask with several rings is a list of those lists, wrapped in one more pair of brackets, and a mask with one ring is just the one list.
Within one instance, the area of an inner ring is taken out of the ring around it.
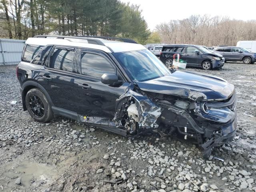
{"label": "windshield of the wrecked black SUV with white roof", "polygon": [[170,75],[170,70],[148,49],[113,53],[133,81]]}

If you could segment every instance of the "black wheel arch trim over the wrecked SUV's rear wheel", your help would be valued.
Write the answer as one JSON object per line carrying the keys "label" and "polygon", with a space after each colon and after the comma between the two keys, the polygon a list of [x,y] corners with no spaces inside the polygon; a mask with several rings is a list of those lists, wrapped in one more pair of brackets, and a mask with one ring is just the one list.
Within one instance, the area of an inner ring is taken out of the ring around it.
{"label": "black wheel arch trim over the wrecked SUV's rear wheel", "polygon": [[[40,84],[38,84],[37,82],[34,82],[34,81],[26,81],[24,82],[24,84],[22,84],[22,86],[20,87],[20,92],[21,92],[21,95],[22,95],[22,104],[23,104],[23,110],[26,111],[27,108],[26,108],[26,101],[25,101],[25,98],[26,98],[26,88],[28,88],[28,86],[34,86],[34,87],[37,87],[39,88],[43,93],[44,95],[46,96],[47,100],[50,102],[51,106],[54,106],[54,104],[52,103],[52,100],[50,98],[50,95],[48,94],[48,92],[44,89],[44,87]],[[30,90],[30,89],[29,89]]]}

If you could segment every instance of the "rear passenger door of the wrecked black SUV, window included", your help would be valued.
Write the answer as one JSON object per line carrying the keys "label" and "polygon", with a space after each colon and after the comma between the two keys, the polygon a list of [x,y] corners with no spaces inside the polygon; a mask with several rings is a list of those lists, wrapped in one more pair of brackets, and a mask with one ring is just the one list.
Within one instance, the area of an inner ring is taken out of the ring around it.
{"label": "rear passenger door of the wrecked black SUV, window included", "polygon": [[76,111],[74,102],[75,48],[56,46],[52,49],[42,79],[48,83],[48,94],[55,107]]}

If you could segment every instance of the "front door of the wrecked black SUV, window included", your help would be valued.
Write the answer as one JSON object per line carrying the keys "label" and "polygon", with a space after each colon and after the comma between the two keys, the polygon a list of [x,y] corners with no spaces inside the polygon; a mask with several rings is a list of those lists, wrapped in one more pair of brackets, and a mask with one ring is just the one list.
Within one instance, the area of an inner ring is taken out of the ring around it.
{"label": "front door of the wrecked black SUV, window included", "polygon": [[114,118],[116,99],[124,94],[129,83],[110,86],[101,82],[104,73],[117,73],[105,54],[82,51],[79,58],[80,74],[74,80],[76,112],[85,116]]}

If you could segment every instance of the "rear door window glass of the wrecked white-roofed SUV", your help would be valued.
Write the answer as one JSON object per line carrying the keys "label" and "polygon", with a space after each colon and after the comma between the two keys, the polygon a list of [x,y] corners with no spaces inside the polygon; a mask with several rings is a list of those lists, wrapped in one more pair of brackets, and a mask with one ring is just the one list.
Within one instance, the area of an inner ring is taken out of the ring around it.
{"label": "rear door window glass of the wrecked white-roofed SUV", "polygon": [[50,57],[50,68],[73,72],[74,51],[54,49]]}

